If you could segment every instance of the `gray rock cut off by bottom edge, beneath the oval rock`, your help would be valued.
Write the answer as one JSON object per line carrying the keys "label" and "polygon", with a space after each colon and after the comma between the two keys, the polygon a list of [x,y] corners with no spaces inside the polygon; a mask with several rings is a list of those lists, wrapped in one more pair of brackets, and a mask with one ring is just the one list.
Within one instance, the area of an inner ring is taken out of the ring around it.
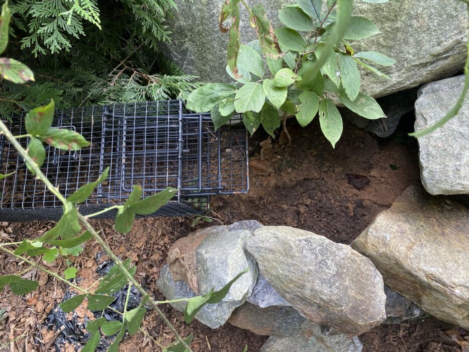
{"label": "gray rock cut off by bottom edge, beneath the oval rock", "polygon": [[361,352],[363,344],[358,337],[321,335],[319,327],[311,337],[271,336],[265,341],[260,352]]}

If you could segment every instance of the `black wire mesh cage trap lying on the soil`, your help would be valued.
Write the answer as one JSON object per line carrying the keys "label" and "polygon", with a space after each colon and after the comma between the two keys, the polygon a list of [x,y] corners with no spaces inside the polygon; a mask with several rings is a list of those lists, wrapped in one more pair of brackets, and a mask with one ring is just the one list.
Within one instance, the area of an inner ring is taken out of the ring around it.
{"label": "black wire mesh cage trap lying on the soil", "polygon": [[[25,134],[24,115],[9,123],[14,135]],[[201,214],[213,195],[246,193],[247,131],[241,116],[215,131],[210,113],[187,111],[180,100],[57,109],[52,128],[72,129],[90,142],[78,151],[46,146],[41,169],[65,196],[93,182],[110,167],[108,179],[80,205],[91,214],[123,204],[134,185],[143,197],[167,187],[175,197],[150,216]],[[26,147],[27,138],[20,139]],[[61,202],[27,169],[24,159],[0,136],[0,221],[56,220]],[[113,218],[106,212],[97,218]]]}

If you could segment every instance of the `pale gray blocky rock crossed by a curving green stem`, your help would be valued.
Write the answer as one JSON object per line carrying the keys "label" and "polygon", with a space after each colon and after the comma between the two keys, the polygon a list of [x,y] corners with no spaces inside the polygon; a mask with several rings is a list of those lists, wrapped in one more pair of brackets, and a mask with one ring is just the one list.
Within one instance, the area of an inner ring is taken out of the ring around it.
{"label": "pale gray blocky rock crossed by a curving green stem", "polygon": [[[425,84],[415,102],[415,130],[427,128],[451,110],[464,76]],[[443,127],[418,138],[422,184],[437,195],[469,194],[469,100]]]}

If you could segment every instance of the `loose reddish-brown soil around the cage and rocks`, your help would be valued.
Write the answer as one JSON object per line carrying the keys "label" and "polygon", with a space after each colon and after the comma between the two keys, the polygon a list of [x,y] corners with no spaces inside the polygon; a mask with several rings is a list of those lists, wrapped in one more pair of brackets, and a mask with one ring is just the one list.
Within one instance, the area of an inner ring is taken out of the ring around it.
{"label": "loose reddish-brown soil around the cage and rocks", "polygon": [[[408,186],[420,183],[418,149],[415,142],[408,143],[406,138],[384,140],[345,123],[342,138],[333,149],[319,132],[317,121],[304,129],[289,126],[289,132],[291,146],[285,145],[285,134],[278,138],[283,144],[272,145],[262,133],[251,138],[250,191],[246,195],[213,197],[210,216],[218,219],[214,224],[255,219],[265,225],[299,227],[349,244]],[[112,221],[93,222],[116,254],[132,258],[137,264],[137,280],[158,300],[163,300],[155,287],[159,269],[174,241],[194,230],[191,224],[191,218],[138,219],[130,234],[120,235],[113,230]],[[210,225],[201,222],[197,228]],[[51,226],[49,222],[1,223],[0,240],[32,238]],[[73,259],[83,287],[99,278],[95,273],[98,250],[88,242],[82,254]],[[61,271],[66,266],[59,259],[50,267]],[[3,274],[26,268],[14,258],[0,254]],[[0,346],[16,339],[14,350],[44,351],[53,333],[41,326],[47,312],[61,301],[65,288],[35,270],[28,272],[28,278],[40,281],[38,292],[25,297],[12,296],[8,290],[0,294],[0,309],[7,309],[7,318],[0,319]],[[258,351],[267,338],[229,324],[214,330],[198,321],[185,324],[180,312],[169,306],[162,306],[162,311],[181,335],[194,334],[195,351],[241,352],[245,346],[249,351]],[[143,327],[148,335],[139,332],[127,337],[121,344],[123,351],[160,350],[159,345],[173,341],[172,333],[154,312],[147,313]],[[465,335],[466,331],[425,318],[381,325],[360,339],[363,351],[461,351],[455,341]],[[67,346],[66,350],[74,349]]]}

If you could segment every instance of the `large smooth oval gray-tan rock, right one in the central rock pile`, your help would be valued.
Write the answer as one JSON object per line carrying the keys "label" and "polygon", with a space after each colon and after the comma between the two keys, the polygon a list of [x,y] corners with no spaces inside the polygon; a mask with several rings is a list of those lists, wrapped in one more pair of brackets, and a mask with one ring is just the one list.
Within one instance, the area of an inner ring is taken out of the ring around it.
{"label": "large smooth oval gray-tan rock, right one in the central rock pile", "polygon": [[246,248],[270,285],[306,318],[357,335],[386,319],[381,274],[349,246],[288,226],[264,226]]}

